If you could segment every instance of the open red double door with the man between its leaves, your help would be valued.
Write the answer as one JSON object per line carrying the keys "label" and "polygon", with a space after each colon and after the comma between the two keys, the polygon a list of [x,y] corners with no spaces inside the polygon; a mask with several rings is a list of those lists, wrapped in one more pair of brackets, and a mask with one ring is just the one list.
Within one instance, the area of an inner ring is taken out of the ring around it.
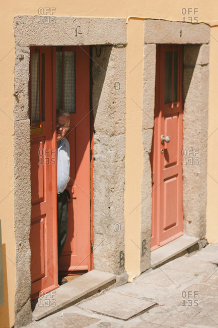
{"label": "open red double door with the man between its leaves", "polygon": [[[89,46],[31,47],[32,299],[91,270]],[[56,110],[70,115],[68,228],[57,266]],[[40,293],[40,295],[39,295]]]}

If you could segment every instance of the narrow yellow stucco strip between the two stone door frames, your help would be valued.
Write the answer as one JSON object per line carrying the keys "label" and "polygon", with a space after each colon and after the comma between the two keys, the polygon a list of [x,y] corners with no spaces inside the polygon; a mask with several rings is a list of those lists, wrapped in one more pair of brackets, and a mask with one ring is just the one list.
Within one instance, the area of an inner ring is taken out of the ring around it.
{"label": "narrow yellow stucco strip between the two stone door frames", "polygon": [[126,201],[124,202],[124,217],[125,269],[128,272],[129,281],[140,274],[140,202],[143,147],[141,138],[142,111],[138,105],[142,108],[143,24],[143,20],[130,19],[127,26],[124,194]]}

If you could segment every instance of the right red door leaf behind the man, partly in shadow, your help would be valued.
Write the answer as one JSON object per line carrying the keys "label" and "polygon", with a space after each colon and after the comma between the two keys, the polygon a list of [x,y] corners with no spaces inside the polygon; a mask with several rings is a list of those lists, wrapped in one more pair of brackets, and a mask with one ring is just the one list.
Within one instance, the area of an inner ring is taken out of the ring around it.
{"label": "right red door leaf behind the man, partly in shadow", "polygon": [[91,270],[89,46],[57,47],[55,61],[56,106],[70,115],[68,227],[58,264],[69,275]]}

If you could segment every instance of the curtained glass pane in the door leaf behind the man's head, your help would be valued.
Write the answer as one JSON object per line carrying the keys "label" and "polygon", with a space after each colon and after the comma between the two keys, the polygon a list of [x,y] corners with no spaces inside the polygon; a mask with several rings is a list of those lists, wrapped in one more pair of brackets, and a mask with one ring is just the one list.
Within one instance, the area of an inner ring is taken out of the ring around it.
{"label": "curtained glass pane in the door leaf behind the man's head", "polygon": [[75,51],[56,51],[57,110],[76,113]]}

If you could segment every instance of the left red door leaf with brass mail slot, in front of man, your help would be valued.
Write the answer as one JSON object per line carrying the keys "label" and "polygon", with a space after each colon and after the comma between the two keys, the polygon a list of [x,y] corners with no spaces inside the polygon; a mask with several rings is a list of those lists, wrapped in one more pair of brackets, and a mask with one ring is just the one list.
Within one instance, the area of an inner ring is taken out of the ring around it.
{"label": "left red door leaf with brass mail slot, in front of man", "polygon": [[32,299],[58,287],[56,226],[56,125],[52,104],[52,48],[31,47],[30,230]]}

